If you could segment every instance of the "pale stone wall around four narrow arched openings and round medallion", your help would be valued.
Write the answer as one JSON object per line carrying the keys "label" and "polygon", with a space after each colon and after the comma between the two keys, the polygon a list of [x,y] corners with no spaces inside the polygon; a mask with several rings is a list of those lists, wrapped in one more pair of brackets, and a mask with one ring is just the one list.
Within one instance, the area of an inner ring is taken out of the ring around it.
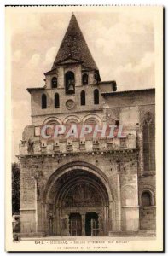
{"label": "pale stone wall around four narrow arched openings and round medallion", "polygon": [[[77,113],[77,112],[95,112],[97,110],[101,109],[101,105],[103,102],[102,96],[100,96],[100,104],[95,105],[94,104],[94,90],[98,88],[98,86],[93,85],[84,85],[76,88],[75,94],[73,95],[66,95],[65,90],[61,88],[52,89],[52,90],[37,90],[34,91],[32,94],[32,124],[36,122],[37,116],[52,116],[56,115],[58,118],[60,118],[61,113]],[[80,104],[80,93],[82,90],[85,90],[86,92],[86,105],[81,106]],[[41,108],[41,97],[43,93],[47,96],[47,108],[42,109]],[[55,108],[55,93],[58,93],[60,95],[60,108]],[[74,106],[72,108],[69,108],[67,106],[67,100],[72,100],[74,103]]]}

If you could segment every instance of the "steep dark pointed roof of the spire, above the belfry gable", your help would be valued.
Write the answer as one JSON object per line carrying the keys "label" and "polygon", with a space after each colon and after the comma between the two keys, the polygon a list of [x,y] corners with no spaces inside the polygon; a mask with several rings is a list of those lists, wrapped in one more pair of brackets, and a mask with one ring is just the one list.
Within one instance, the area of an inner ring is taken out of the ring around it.
{"label": "steep dark pointed roof of the spire, above the belfry gable", "polygon": [[90,67],[91,69],[98,70],[96,62],[94,61],[90,49],[86,44],[83,33],[78,26],[78,21],[75,15],[72,14],[67,32],[61,42],[60,49],[55,57],[53,68],[57,62],[66,60],[69,56],[73,59],[83,61],[84,67]]}

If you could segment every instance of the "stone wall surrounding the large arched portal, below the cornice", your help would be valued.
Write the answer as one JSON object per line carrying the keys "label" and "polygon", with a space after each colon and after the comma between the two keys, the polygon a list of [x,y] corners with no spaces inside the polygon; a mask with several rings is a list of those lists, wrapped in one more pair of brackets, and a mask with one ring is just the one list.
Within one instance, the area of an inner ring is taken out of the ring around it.
{"label": "stone wall surrounding the large arched portal, below the cornice", "polygon": [[[25,225],[26,223],[31,223],[32,221],[38,221],[38,232],[43,232],[46,230],[46,225],[48,227],[49,219],[43,219],[43,207],[45,206],[45,202],[43,201],[43,192],[45,191],[46,185],[49,181],[49,177],[56,173],[56,170],[59,170],[62,166],[66,166],[68,163],[71,162],[80,162],[85,165],[85,160],[87,155],[87,164],[90,164],[92,166],[98,167],[101,172],[104,173],[104,175],[107,177],[107,180],[109,181],[111,193],[113,195],[113,200],[115,203],[112,207],[112,213],[115,212],[115,218],[116,223],[113,223],[113,219],[111,217],[109,225],[111,225],[113,230],[119,230],[122,226],[125,227],[126,223],[128,223],[129,215],[128,213],[125,213],[125,210],[123,210],[123,207],[125,207],[125,203],[122,203],[122,211],[121,208],[119,208],[119,205],[121,206],[120,201],[123,201],[123,199],[119,199],[119,196],[123,198],[123,195],[121,193],[122,188],[125,188],[125,184],[130,189],[137,189],[137,172],[135,169],[135,166],[130,166],[130,159],[136,158],[136,153],[134,152],[128,152],[128,153],[107,153],[107,154],[78,154],[78,155],[72,155],[72,154],[66,154],[62,156],[27,156],[22,157],[20,159],[20,169],[21,169],[21,176],[20,177],[27,177],[27,183],[23,183],[21,181],[21,189],[20,189],[20,201],[21,201],[21,207],[22,210],[20,212],[21,215],[21,232],[26,232]],[[125,180],[125,174],[122,174],[121,171],[119,171],[119,161],[125,162],[125,172],[129,172],[129,178],[126,181]],[[26,169],[24,168],[26,166]],[[81,167],[82,168],[82,167]],[[135,174],[136,172],[136,174]],[[119,178],[118,178],[119,177]],[[118,181],[116,183],[116,181]],[[35,185],[36,184],[36,185]],[[121,188],[121,191],[120,191]],[[128,189],[127,188],[127,189]],[[36,194],[37,191],[37,194]],[[27,195],[26,198],[24,198],[24,195]],[[37,200],[34,197],[37,195]],[[138,220],[138,205],[137,205],[137,193],[133,194],[134,198],[132,201],[134,201],[134,209],[132,207],[131,200],[127,201],[127,207],[130,207],[129,212],[136,211],[136,213],[131,215],[131,220],[133,221],[134,225],[127,224],[126,230],[137,230],[137,220]],[[36,203],[37,201],[37,203]],[[44,203],[44,205],[43,205]],[[120,210],[119,210],[120,209]],[[126,210],[128,212],[128,209]],[[25,214],[26,212],[26,214]],[[120,212],[120,213],[119,213]],[[38,217],[37,217],[38,214]],[[116,215],[117,214],[117,215]],[[46,223],[45,226],[43,226],[43,221]],[[35,229],[34,225],[34,229]],[[26,229],[28,229],[26,227]],[[29,228],[30,229],[30,228]]]}

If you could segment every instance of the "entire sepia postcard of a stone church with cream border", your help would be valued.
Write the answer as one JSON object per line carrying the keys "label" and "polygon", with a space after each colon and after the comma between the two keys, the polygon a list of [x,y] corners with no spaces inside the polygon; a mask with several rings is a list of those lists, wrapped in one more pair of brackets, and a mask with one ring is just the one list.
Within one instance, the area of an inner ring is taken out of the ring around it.
{"label": "entire sepia postcard of a stone church with cream border", "polygon": [[5,9],[6,250],[162,251],[163,7]]}

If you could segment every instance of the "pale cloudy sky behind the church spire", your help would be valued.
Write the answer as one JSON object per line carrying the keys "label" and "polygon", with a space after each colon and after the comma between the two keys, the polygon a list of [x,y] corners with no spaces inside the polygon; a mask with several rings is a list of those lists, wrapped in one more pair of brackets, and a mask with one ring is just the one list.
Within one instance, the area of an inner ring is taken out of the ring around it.
{"label": "pale cloudy sky behind the church spire", "polygon": [[[27,87],[42,87],[52,67],[72,12],[29,10],[11,15],[13,161],[26,125],[31,125]],[[101,80],[116,80],[118,90],[154,88],[153,12],[74,11]]]}

